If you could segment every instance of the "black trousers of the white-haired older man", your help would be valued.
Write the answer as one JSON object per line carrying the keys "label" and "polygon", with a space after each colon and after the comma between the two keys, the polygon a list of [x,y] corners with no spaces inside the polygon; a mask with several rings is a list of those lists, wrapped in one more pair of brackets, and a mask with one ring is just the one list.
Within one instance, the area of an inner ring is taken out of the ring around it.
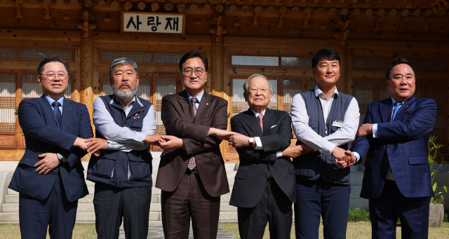
{"label": "black trousers of the white-haired older man", "polygon": [[240,237],[263,238],[268,221],[270,238],[290,239],[292,204],[276,182],[267,183],[255,207],[237,207]]}

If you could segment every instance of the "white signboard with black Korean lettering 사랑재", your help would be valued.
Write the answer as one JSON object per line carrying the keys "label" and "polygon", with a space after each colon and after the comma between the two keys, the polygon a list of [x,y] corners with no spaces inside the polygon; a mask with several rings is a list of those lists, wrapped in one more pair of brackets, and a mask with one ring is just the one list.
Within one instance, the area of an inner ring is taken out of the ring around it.
{"label": "white signboard with black Korean lettering \uc0ac\ub791\uc7ac", "polygon": [[121,33],[142,32],[185,36],[185,14],[121,12]]}

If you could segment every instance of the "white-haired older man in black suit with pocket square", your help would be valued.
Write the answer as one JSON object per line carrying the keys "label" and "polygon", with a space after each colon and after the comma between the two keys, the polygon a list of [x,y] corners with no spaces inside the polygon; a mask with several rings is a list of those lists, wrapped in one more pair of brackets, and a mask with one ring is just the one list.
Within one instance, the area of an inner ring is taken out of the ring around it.
{"label": "white-haired older man in black suit with pocket square", "polygon": [[240,165],[230,205],[238,207],[239,233],[243,238],[262,238],[269,221],[270,238],[290,238],[292,203],[296,200],[295,168],[290,157],[302,151],[290,146],[293,138],[288,112],[269,109],[272,86],[265,76],[254,74],[243,83],[250,109],[231,118]]}

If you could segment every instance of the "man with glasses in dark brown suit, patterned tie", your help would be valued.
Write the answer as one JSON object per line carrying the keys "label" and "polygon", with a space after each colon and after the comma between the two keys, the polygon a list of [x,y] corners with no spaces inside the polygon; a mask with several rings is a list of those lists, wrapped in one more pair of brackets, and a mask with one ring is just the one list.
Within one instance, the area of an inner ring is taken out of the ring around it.
{"label": "man with glasses in dark brown suit, patterned tie", "polygon": [[[166,238],[188,238],[192,217],[194,238],[216,238],[220,196],[229,192],[220,153],[227,128],[227,101],[209,95],[208,62],[199,51],[180,60],[185,90],[162,98],[161,119],[166,136],[156,179],[162,189],[162,225]],[[220,139],[220,138],[221,139]]]}

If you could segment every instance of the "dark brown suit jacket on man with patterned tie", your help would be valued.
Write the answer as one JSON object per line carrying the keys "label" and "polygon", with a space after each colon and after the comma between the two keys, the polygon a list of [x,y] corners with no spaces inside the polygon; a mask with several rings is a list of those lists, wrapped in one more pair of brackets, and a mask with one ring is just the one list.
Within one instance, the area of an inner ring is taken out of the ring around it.
{"label": "dark brown suit jacket on man with patterned tie", "polygon": [[185,149],[164,150],[156,178],[156,187],[175,191],[187,170],[189,158],[195,156],[196,167],[210,196],[229,193],[225,162],[220,152],[220,139],[208,137],[211,127],[227,129],[227,101],[204,93],[194,118],[187,92],[162,98],[161,119],[167,135],[182,139]]}

